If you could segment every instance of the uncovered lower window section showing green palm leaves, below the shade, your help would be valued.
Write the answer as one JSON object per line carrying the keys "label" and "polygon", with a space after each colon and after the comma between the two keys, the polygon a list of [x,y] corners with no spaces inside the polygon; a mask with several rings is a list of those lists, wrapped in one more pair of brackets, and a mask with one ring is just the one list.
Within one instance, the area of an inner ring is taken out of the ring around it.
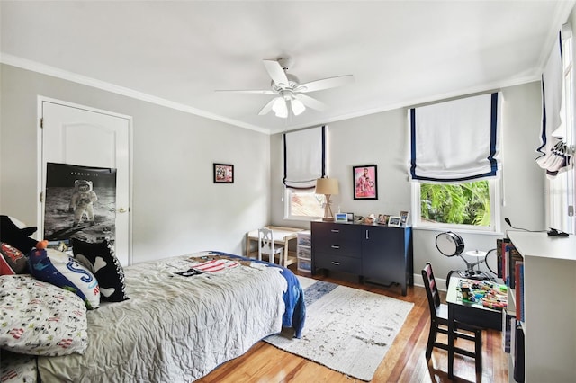
{"label": "uncovered lower window section showing green palm leaves, below the shade", "polygon": [[500,183],[412,183],[415,227],[498,231]]}

